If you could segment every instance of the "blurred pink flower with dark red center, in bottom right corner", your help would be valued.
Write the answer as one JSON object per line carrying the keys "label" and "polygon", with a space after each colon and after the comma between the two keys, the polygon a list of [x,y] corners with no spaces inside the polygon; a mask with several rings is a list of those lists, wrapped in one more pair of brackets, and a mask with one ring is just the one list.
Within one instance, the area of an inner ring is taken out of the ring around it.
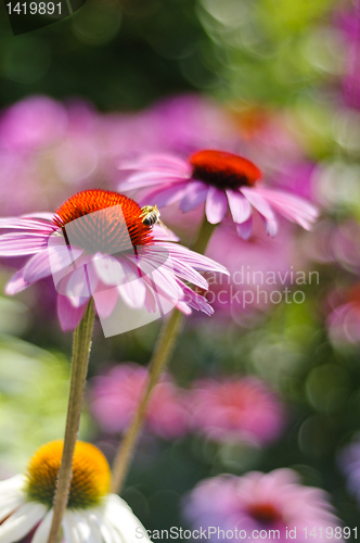
{"label": "blurred pink flower with dark red center, in bottom right corner", "polygon": [[312,529],[326,541],[344,541],[342,529],[335,532],[340,521],[327,494],[301,485],[292,469],[252,471],[243,477],[223,475],[201,481],[184,501],[184,516],[193,528],[216,527],[210,541],[260,539],[285,543],[293,539],[306,543]]}

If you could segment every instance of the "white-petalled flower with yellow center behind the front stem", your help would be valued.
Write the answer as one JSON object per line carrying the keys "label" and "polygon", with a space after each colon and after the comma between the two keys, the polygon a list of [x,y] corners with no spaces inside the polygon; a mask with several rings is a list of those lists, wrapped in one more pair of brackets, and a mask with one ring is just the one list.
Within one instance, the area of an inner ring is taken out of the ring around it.
{"label": "white-petalled flower with yellow center behind the front stem", "polygon": [[[0,482],[0,543],[13,543],[34,533],[31,543],[47,543],[63,441],[42,445],[26,473]],[[150,541],[130,507],[110,494],[111,470],[105,456],[78,441],[73,479],[62,521],[65,543],[137,543]],[[138,536],[137,536],[138,535]]]}

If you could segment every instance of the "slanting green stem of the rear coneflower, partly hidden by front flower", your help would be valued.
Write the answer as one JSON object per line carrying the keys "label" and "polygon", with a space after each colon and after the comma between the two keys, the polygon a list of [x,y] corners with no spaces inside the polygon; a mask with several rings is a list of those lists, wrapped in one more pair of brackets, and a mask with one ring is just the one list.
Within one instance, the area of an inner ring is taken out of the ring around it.
{"label": "slanting green stem of the rear coneflower, partly hidden by front flower", "polygon": [[[207,222],[206,216],[204,216],[196,239],[191,249],[198,253],[204,253],[214,229],[215,225],[210,225]],[[154,353],[149,364],[146,390],[115,456],[113,465],[113,492],[115,493],[121,492],[129,464],[132,460],[134,449],[138,444],[140,432],[144,424],[149,400],[162,372],[172,356],[176,341],[182,329],[183,320],[184,315],[179,310],[173,310],[169,319],[163,325]]]}

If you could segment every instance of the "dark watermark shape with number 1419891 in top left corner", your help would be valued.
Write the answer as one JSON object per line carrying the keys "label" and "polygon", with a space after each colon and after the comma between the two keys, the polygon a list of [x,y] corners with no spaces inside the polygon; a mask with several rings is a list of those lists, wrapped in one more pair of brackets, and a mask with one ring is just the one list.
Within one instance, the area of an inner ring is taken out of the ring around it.
{"label": "dark watermark shape with number 1419891 in top left corner", "polygon": [[85,2],[86,0],[3,0],[14,36],[68,17]]}

